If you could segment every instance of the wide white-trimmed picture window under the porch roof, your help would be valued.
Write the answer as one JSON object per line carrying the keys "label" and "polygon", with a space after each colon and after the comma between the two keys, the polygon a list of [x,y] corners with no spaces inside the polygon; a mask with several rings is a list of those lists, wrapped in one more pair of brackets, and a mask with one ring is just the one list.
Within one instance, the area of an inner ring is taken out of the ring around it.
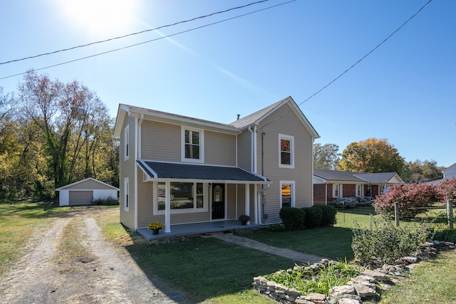
{"label": "wide white-trimmed picture window under the porch roof", "polygon": [[[166,183],[157,182],[154,211],[165,214]],[[170,182],[171,214],[207,211],[207,184],[197,182]]]}

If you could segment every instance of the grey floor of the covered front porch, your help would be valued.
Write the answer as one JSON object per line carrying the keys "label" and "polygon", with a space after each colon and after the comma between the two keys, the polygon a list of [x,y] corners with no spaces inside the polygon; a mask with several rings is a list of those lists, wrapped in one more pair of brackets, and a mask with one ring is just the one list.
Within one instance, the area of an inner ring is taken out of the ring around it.
{"label": "grey floor of the covered front porch", "polygon": [[165,239],[175,236],[192,236],[199,234],[210,234],[214,232],[233,231],[236,229],[260,228],[260,224],[242,225],[240,221],[233,219],[227,221],[207,221],[195,224],[174,224],[171,225],[171,232],[165,233],[165,229],[160,229],[158,234],[152,234],[152,230],[139,228],[138,233],[145,239]]}

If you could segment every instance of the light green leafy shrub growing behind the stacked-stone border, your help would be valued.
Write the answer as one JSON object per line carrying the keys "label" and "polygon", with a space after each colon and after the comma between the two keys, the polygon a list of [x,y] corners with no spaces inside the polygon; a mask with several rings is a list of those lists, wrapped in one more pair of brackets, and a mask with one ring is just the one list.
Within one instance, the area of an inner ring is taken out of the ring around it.
{"label": "light green leafy shrub growing behind the stacked-stone border", "polygon": [[352,229],[351,248],[355,258],[363,263],[372,258],[393,264],[398,258],[417,251],[427,239],[427,226],[397,227],[386,216],[371,216],[368,227],[358,224]]}

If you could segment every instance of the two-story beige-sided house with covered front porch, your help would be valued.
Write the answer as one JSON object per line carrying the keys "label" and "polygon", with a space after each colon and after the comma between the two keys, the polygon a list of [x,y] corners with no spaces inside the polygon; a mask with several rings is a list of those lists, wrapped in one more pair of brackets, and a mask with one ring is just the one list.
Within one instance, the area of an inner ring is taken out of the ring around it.
{"label": "two-story beige-sided house with covered front porch", "polygon": [[231,124],[119,105],[120,221],[130,229],[238,219],[279,223],[313,202],[318,133],[289,97]]}

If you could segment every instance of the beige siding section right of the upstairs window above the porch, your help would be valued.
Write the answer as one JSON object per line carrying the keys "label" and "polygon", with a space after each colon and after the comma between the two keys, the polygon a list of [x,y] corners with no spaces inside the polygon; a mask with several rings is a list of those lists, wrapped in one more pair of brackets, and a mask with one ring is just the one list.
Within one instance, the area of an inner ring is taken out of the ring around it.
{"label": "beige siding section right of the upstairs window above the porch", "polygon": [[236,165],[236,136],[204,131],[204,163],[220,166]]}

